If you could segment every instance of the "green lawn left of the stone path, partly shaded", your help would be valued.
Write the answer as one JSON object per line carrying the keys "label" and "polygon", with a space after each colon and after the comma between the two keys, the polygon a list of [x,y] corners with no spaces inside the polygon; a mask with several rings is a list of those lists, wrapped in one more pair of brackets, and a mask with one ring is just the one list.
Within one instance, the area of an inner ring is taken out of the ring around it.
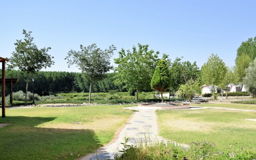
{"label": "green lawn left of the stone path, partly shaded", "polygon": [[74,160],[114,138],[128,105],[6,109],[0,160]]}

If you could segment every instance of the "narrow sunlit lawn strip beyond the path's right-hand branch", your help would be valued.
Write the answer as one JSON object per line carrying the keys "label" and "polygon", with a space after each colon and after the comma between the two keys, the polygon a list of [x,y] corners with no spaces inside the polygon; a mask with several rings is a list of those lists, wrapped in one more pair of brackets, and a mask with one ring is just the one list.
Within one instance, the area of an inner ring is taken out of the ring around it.
{"label": "narrow sunlit lawn strip beyond the path's right-hand branch", "polygon": [[245,110],[256,110],[255,104],[235,104],[235,103],[220,103],[220,104],[190,104],[190,106],[204,106],[204,107],[223,107],[223,108],[237,108]]}

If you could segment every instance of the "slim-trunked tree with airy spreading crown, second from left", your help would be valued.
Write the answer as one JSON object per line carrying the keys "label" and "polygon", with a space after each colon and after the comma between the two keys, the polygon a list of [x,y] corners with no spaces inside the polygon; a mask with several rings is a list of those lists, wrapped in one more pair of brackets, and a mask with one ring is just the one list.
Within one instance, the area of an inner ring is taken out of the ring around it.
{"label": "slim-trunked tree with airy spreading crown, second from left", "polygon": [[70,50],[65,60],[68,60],[68,67],[73,64],[82,70],[84,77],[90,81],[90,96],[89,103],[91,103],[92,84],[98,80],[106,77],[106,72],[110,71],[113,66],[110,65],[110,58],[113,51],[116,50],[114,45],[109,46],[108,49],[101,50],[96,44],[87,47],[80,45],[80,51]]}

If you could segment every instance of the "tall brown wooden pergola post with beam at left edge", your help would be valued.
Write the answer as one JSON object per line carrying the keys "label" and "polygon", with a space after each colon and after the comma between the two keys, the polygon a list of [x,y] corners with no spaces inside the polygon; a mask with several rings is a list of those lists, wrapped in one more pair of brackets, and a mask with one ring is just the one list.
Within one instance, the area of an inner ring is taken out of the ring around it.
{"label": "tall brown wooden pergola post with beam at left edge", "polygon": [[5,117],[5,63],[8,59],[0,57],[2,62],[2,118]]}

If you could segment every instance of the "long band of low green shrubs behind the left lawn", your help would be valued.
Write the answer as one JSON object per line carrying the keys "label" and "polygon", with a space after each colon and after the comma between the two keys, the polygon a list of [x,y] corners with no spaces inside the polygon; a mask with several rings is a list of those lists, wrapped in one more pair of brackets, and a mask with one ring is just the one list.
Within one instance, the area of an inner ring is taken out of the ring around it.
{"label": "long band of low green shrubs behind the left lawn", "polygon": [[[7,104],[10,97],[6,97]],[[89,93],[60,93],[50,96],[38,96],[34,94],[35,104],[83,104],[89,102]],[[27,104],[31,105],[33,100],[33,94],[28,92]],[[174,102],[187,100],[186,98],[164,98],[165,102]],[[24,105],[25,93],[22,91],[13,93],[13,105]],[[129,96],[128,92],[117,92],[116,90],[109,93],[92,93],[92,104],[129,104],[129,103],[142,103],[142,102],[161,102],[160,98],[154,98],[154,92],[142,92],[139,94],[139,100],[136,100],[136,96]]]}

